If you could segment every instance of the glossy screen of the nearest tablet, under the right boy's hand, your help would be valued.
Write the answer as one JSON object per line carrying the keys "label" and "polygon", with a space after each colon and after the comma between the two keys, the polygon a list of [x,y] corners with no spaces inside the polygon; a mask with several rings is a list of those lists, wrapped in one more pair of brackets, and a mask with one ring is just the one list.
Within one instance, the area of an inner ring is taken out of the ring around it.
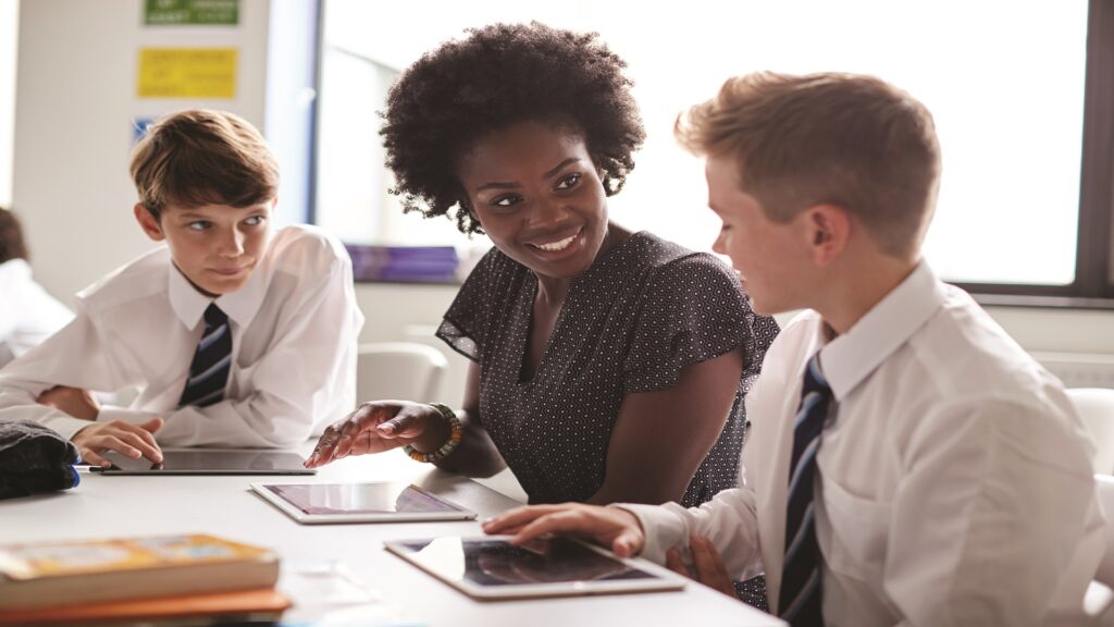
{"label": "glossy screen of the nearest tablet, under the right boy's hand", "polygon": [[442,579],[485,588],[661,579],[565,538],[539,540],[529,547],[516,547],[501,539],[456,537],[389,544]]}

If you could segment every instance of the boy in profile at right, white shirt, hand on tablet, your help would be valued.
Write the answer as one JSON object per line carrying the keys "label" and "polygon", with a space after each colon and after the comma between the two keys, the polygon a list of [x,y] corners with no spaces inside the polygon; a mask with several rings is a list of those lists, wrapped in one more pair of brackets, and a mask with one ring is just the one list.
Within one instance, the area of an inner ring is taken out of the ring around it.
{"label": "boy in profile at right, white shirt, hand on tablet", "polygon": [[519,509],[485,530],[580,533],[682,571],[671,548],[688,543],[719,589],[764,565],[792,625],[1079,612],[1103,552],[1089,443],[1059,383],[920,260],[939,179],[928,112],[874,78],[761,74],[676,133],[706,156],[715,250],[755,311],[811,309],[747,396],[745,486],[691,510]]}

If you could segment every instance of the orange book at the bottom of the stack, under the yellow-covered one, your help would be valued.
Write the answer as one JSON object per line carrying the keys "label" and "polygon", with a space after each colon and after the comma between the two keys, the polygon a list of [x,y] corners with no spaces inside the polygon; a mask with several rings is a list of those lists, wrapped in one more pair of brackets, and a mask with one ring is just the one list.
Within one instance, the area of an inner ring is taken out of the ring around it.
{"label": "orange book at the bottom of the stack, under the yellow-covered one", "polygon": [[290,599],[273,588],[240,590],[234,592],[209,592],[133,599],[123,601],[98,601],[65,607],[37,609],[0,610],[0,626],[8,625],[144,625],[160,623],[189,625],[232,623],[271,623],[278,620],[291,606]]}

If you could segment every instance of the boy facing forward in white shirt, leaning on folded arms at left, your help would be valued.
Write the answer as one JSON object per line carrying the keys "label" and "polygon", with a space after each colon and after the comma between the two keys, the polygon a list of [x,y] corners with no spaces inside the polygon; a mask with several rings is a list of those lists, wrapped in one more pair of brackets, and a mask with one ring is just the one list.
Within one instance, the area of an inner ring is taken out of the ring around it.
{"label": "boy facing forward in white shirt, leaning on folded arms at left", "polygon": [[[272,237],[278,170],[258,132],[167,116],[131,177],[136,220],[167,245],[80,292],[74,322],[0,372],[0,419],[38,421],[106,465],[106,450],[158,462],[159,444],[293,446],[348,413],[363,324],[351,261],[312,226]],[[127,409],[86,392],[128,386]]]}

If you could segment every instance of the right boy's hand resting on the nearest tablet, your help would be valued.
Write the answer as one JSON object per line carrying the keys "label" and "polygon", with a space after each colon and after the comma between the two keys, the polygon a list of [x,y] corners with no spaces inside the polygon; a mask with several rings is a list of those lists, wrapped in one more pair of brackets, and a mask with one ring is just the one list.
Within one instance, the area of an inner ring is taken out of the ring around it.
{"label": "right boy's hand resting on the nearest tablet", "polygon": [[633,513],[582,503],[515,508],[485,521],[483,532],[515,534],[515,544],[550,533],[590,538],[620,558],[638,554],[646,541]]}

